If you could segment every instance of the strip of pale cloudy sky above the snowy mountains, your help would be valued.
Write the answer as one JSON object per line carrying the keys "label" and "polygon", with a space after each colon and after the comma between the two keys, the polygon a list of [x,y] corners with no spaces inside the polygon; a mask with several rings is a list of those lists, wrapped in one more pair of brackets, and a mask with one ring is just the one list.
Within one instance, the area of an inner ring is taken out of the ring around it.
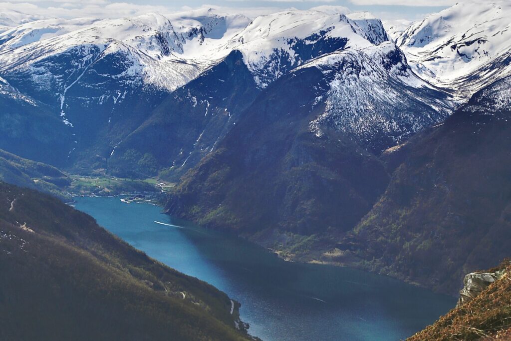
{"label": "strip of pale cloudy sky above the snowy mountains", "polygon": [[162,14],[203,6],[217,7],[254,17],[286,8],[309,9],[342,6],[351,11],[369,11],[382,19],[420,19],[462,0],[0,0],[0,12],[18,10],[51,17],[121,17],[147,12]]}

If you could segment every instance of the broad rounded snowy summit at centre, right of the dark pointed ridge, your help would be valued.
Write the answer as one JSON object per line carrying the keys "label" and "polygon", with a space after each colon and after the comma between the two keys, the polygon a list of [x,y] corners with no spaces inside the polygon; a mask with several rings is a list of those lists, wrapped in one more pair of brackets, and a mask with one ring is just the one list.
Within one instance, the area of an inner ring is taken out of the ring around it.
{"label": "broad rounded snowy summit at centre, right of the dark pointed ridge", "polygon": [[228,43],[244,55],[260,87],[320,55],[388,40],[381,21],[365,14],[288,11],[255,18]]}

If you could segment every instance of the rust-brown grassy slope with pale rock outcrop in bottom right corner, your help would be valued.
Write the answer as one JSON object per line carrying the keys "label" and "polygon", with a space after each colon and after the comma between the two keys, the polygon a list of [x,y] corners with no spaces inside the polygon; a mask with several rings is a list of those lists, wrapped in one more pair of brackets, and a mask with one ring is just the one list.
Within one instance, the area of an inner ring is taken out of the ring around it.
{"label": "rust-brown grassy slope with pale rock outcrop in bottom right corner", "polygon": [[458,305],[435,324],[413,335],[409,341],[440,340],[508,340],[511,338],[511,266],[509,261],[496,268],[469,274],[463,289],[479,288],[480,281],[474,278],[488,278],[475,298]]}

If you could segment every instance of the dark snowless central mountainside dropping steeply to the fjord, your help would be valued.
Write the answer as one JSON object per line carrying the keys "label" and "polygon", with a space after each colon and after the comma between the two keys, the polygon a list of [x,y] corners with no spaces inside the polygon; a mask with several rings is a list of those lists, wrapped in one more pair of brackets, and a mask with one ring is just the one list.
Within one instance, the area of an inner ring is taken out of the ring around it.
{"label": "dark snowless central mountainside dropping steeply to the fjord", "polygon": [[[309,132],[309,122],[324,108],[312,105],[314,87],[328,85],[315,68],[296,75],[265,89],[219,148],[184,175],[166,205],[170,213],[241,233],[271,231],[281,224],[306,234],[317,220],[334,224],[346,220],[342,215],[350,209],[368,207],[386,185],[383,167],[340,132],[329,129],[322,138]],[[376,174],[352,189],[355,181],[343,177],[360,176],[353,172],[355,164],[367,178],[371,171]],[[331,210],[338,200],[349,205],[346,211]],[[321,214],[327,212],[340,216]]]}

